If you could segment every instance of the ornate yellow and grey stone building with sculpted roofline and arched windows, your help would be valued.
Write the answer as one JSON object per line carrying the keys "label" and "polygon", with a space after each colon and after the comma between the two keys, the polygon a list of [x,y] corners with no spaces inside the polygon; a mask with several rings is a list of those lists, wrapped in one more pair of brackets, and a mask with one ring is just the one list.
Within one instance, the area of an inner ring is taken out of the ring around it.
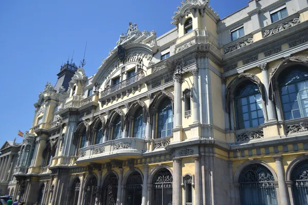
{"label": "ornate yellow and grey stone building with sculpted roofline and arched windows", "polygon": [[252,0],[220,19],[189,0],[172,19],[159,37],[129,23],[93,76],[61,68],[15,146],[7,193],[26,205],[308,204],[307,1]]}

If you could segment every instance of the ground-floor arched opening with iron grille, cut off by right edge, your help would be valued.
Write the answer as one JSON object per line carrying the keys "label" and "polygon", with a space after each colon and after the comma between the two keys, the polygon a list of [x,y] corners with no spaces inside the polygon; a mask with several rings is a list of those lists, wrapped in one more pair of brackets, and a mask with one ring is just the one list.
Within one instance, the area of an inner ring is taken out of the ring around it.
{"label": "ground-floor arched opening with iron grille, cut off by right edge", "polygon": [[295,205],[308,204],[308,159],[298,163],[292,171],[293,197]]}

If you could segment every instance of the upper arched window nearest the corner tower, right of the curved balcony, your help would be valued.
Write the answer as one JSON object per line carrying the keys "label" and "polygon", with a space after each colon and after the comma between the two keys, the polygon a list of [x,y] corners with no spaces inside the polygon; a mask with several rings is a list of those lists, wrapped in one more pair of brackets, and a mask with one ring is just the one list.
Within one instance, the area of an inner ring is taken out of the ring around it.
{"label": "upper arched window nearest the corner tower, right of the curved balcony", "polygon": [[172,104],[165,99],[158,108],[157,138],[171,135],[173,129]]}

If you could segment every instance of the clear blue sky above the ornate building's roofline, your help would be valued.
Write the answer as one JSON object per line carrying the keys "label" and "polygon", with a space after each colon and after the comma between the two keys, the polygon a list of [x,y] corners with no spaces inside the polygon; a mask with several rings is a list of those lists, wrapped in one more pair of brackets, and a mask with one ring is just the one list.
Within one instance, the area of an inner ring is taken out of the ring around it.
{"label": "clear blue sky above the ornate building's roofline", "polygon": [[[247,1],[211,0],[210,5],[223,18]],[[61,64],[73,50],[73,61],[79,65],[87,42],[84,68],[93,75],[128,22],[160,36],[174,28],[171,16],[180,4],[180,0],[1,1],[0,146],[15,137],[22,141],[17,132],[31,127],[38,93],[47,81],[56,83]]]}

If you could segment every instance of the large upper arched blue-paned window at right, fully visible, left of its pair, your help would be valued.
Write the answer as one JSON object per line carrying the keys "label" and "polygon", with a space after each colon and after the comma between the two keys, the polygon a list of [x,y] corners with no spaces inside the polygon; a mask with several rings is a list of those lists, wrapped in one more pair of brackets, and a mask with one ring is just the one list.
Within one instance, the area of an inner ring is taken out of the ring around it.
{"label": "large upper arched blue-paned window at right, fully visible, left of its pair", "polygon": [[237,128],[257,127],[264,123],[262,98],[253,83],[242,84],[235,93]]}

